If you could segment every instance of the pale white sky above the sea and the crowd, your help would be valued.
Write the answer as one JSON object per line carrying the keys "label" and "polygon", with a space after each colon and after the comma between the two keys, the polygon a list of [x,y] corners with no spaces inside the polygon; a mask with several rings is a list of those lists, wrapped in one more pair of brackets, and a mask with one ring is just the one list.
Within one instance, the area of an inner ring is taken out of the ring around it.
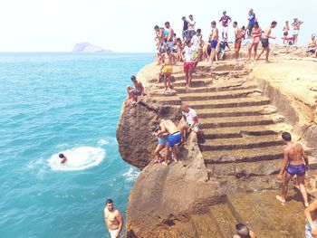
{"label": "pale white sky above the sea and the crowd", "polygon": [[[282,43],[283,24],[294,17],[304,22],[299,44],[317,33],[317,0],[1,0],[0,52],[70,52],[82,42],[114,52],[155,52],[156,24],[169,21],[179,36],[181,17],[193,14],[207,39],[210,22],[218,22],[224,10],[246,25],[250,8],[262,28],[277,21],[272,43]],[[233,32],[230,25],[229,41]]]}

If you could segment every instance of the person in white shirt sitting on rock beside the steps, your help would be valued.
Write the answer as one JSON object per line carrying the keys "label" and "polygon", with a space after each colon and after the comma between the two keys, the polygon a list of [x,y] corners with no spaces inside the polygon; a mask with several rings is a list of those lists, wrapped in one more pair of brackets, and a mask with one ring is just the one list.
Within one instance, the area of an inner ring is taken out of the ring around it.
{"label": "person in white shirt sitting on rock beside the steps", "polygon": [[186,138],[186,134],[190,133],[190,131],[194,131],[198,133],[199,130],[199,121],[197,119],[197,113],[195,109],[189,108],[187,104],[182,105],[182,115],[184,120],[186,121],[186,125],[182,125],[180,127],[180,133],[182,136],[181,142],[184,142]]}

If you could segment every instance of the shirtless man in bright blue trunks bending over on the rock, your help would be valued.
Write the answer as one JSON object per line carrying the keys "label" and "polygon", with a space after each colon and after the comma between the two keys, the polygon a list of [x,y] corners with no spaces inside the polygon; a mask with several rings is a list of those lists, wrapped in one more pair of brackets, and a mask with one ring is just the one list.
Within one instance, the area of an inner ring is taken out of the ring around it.
{"label": "shirtless man in bright blue trunks bending over on the rock", "polygon": [[160,119],[159,121],[159,131],[158,135],[162,133],[168,133],[167,143],[165,146],[165,157],[164,162],[162,163],[163,166],[168,166],[168,151],[169,148],[172,149],[173,159],[175,162],[178,162],[178,157],[176,154],[176,149],[174,148],[175,144],[178,144],[181,140],[181,134],[178,130],[178,127],[171,121],[170,119]]}

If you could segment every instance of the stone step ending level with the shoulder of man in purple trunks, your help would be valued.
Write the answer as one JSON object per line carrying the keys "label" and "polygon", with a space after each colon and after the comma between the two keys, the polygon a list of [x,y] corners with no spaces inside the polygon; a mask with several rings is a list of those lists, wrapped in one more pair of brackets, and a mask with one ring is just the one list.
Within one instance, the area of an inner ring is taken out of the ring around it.
{"label": "stone step ending level with the shoulder of man in purple trunks", "polygon": [[264,148],[224,149],[217,151],[203,151],[202,154],[206,164],[256,162],[283,158],[283,148],[284,147],[280,145]]}

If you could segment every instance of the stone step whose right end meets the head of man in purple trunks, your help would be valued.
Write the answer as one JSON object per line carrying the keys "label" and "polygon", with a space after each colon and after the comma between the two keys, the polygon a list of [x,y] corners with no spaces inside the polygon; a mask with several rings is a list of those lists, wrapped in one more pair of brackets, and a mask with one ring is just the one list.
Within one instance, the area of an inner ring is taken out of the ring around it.
{"label": "stone step whose right end meets the head of man in purple trunks", "polygon": [[[200,149],[204,151],[245,149],[245,148],[267,148],[283,145],[282,138],[275,136],[244,137],[244,138],[216,138],[207,139],[204,144],[200,144]],[[232,151],[235,156],[235,151]]]}

